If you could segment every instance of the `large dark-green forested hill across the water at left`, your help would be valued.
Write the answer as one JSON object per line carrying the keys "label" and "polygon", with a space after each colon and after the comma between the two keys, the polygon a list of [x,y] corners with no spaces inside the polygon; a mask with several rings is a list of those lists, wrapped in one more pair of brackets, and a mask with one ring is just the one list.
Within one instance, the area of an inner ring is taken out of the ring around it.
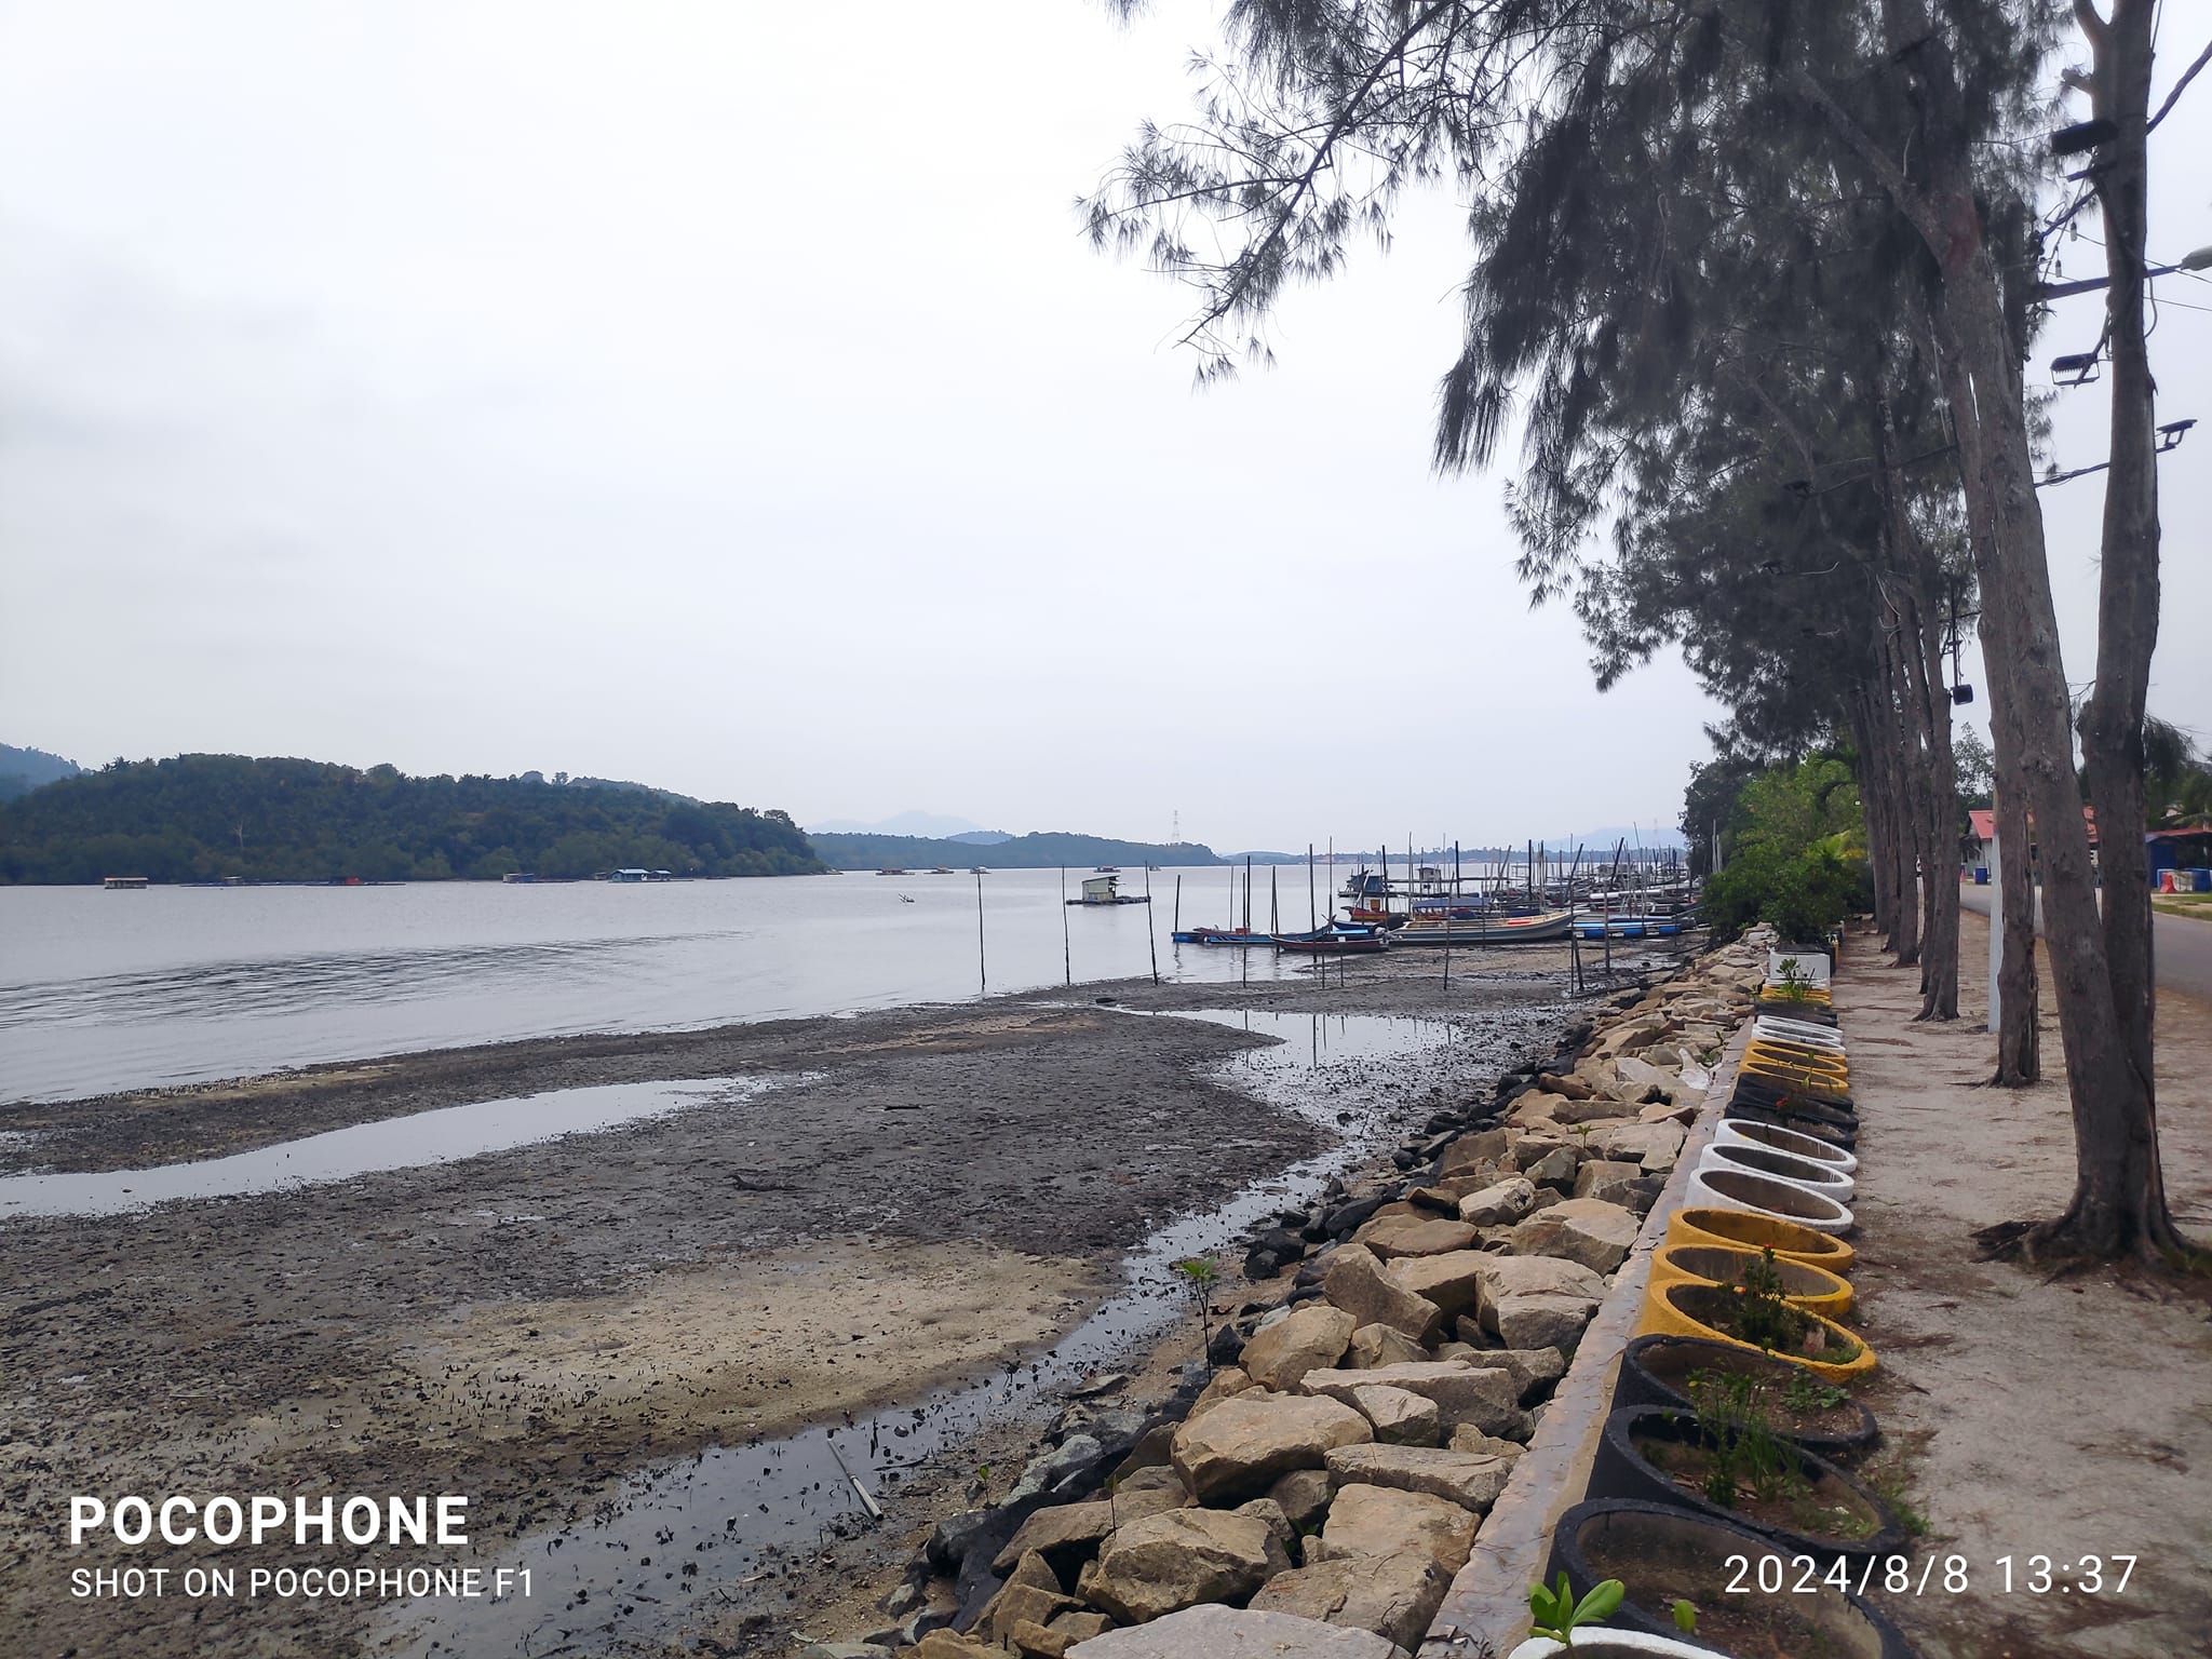
{"label": "large dark-green forested hill across the water at left", "polygon": [[325,761],[119,761],[0,805],[0,883],[799,876],[821,869],[781,812],[533,776],[411,779]]}

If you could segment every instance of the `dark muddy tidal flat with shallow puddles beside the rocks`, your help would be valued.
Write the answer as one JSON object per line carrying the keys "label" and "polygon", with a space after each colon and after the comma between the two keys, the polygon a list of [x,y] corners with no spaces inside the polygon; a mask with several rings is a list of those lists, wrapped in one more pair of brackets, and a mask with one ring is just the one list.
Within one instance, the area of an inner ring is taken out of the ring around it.
{"label": "dark muddy tidal flat with shallow puddles beside the rocks", "polygon": [[[1449,991],[1433,964],[1360,967],[1343,989],[1093,984],[0,1106],[0,1650],[427,1652],[374,1595],[77,1595],[71,1573],[551,1557],[653,1471],[1018,1369],[1168,1223],[1371,1155],[1571,1013],[1528,956],[1469,960]],[[573,1091],[602,1091],[604,1128],[456,1110]],[[383,1130],[336,1139],[363,1126]],[[117,1197],[199,1161],[237,1175],[228,1197]],[[95,1175],[106,1214],[22,1201]],[[938,1462],[869,1475],[887,1540],[958,1500]],[[69,1546],[73,1495],[128,1493],[465,1493],[469,1546]],[[666,1606],[624,1610],[650,1641],[586,1597],[460,1650],[695,1646],[710,1615],[787,1646],[787,1586],[701,1551],[670,1562]]]}

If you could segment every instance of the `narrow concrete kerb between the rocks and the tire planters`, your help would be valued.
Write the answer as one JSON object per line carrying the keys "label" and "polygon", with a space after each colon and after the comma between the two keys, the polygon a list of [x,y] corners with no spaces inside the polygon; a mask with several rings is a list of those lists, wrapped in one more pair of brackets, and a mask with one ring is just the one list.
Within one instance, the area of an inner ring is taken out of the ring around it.
{"label": "narrow concrete kerb between the rocks and the tire planters", "polygon": [[1551,1533],[1559,1515],[1582,1502],[1590,1486],[1590,1464],[1613,1405],[1613,1385],[1621,1354],[1637,1332],[1644,1312],[1644,1287],[1650,1283],[1652,1254],[1666,1239],[1668,1219],[1681,1208],[1690,1188],[1697,1155],[1712,1139],[1714,1124],[1734,1093],[1743,1048],[1752,1040],[1752,1018],[1745,1015],[1728,1040],[1728,1053],[1714,1068],[1714,1086],[1705,1106],[1690,1124],[1674,1170],[1668,1175],[1628,1261],[1621,1263],[1613,1290],[1590,1318],[1575,1349],[1575,1363],[1544,1407],[1528,1451],[1513,1467],[1498,1502],[1491,1504],[1467,1566],[1451,1579],[1444,1604],[1429,1624],[1420,1659],[1471,1659],[1491,1650],[1504,1655],[1528,1637],[1528,1586],[1551,1557]]}

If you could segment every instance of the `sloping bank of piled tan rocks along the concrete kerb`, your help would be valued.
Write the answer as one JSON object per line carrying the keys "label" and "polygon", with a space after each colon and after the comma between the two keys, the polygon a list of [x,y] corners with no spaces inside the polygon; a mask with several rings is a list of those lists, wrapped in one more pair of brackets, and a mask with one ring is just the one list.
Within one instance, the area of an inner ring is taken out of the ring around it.
{"label": "sloping bank of piled tan rocks along the concrete kerb", "polygon": [[1166,1652],[1183,1624],[1197,1641],[1192,1619],[1219,1621],[1186,1610],[1228,1606],[1267,1615],[1274,1652],[1281,1615],[1336,1628],[1312,1630],[1316,1652],[1354,1632],[1376,1659],[1418,1648],[1683,1161],[1763,969],[1745,942],[1615,998],[1495,1099],[1431,1117],[1389,1172],[1261,1230],[1245,1279],[1279,1294],[1230,1314],[1210,1376],[1192,1367],[1159,1411],[1079,1413],[1013,1498],[936,1528],[887,1601],[900,1626],[867,1646],[1110,1659],[1130,1626],[1157,1626],[1144,1650]]}

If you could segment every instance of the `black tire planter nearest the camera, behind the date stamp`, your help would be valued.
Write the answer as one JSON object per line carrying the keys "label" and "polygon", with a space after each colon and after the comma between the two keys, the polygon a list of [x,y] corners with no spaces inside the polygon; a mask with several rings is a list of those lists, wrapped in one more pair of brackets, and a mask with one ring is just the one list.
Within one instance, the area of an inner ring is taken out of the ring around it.
{"label": "black tire planter nearest the camera, behind the date stamp", "polygon": [[[1732,1555],[1743,1555],[1756,1564],[1772,1555],[1774,1546],[1743,1526],[1714,1522],[1668,1504],[1639,1504],[1630,1500],[1597,1500],[1575,1504],[1559,1517],[1551,1533],[1551,1562],[1544,1579],[1555,1582],[1566,1573],[1575,1595],[1586,1595],[1593,1584],[1619,1579],[1628,1586],[1628,1599],[1608,1621],[1621,1630],[1639,1630],[1655,1637],[1672,1637],[1714,1652],[1730,1652],[1717,1641],[1725,1632],[1710,1637],[1686,1637],[1674,1628],[1672,1601],[1688,1599],[1699,1610],[1699,1624],[1717,1624],[1717,1613],[1728,1606],[1756,1604],[1794,1630],[1778,1632],[1787,1641],[1783,1652],[1823,1652],[1836,1659],[1913,1659],[1911,1646],[1889,1619],[1874,1606],[1834,1584],[1820,1584],[1812,1593],[1750,1595],[1730,1593],[1732,1582],[1741,1582]],[[1785,1559],[1785,1568],[1790,1562]],[[1752,1571],[1756,1582],[1756,1566]],[[1796,1584],[1796,1568],[1790,1568],[1790,1586]],[[1601,1637],[1604,1626],[1593,1626],[1584,1639]],[[1814,1644],[1820,1644],[1818,1648]],[[1579,1646],[1579,1641],[1577,1641]]]}

